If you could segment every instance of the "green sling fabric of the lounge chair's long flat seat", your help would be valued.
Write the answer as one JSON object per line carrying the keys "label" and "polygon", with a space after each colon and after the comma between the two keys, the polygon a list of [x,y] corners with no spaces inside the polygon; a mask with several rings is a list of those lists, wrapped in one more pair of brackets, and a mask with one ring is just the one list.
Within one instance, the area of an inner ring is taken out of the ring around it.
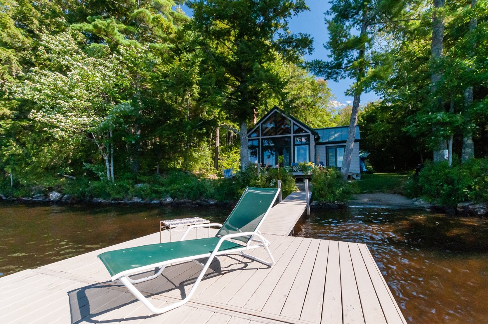
{"label": "green sling fabric of the lounge chair's long flat seat", "polygon": [[[144,265],[211,253],[219,240],[218,237],[211,237],[198,240],[149,244],[104,252],[98,257],[102,260],[103,264],[105,264],[110,276],[114,276],[122,271],[138,268]],[[219,251],[240,247],[243,247],[243,245],[224,241],[220,246]]]}

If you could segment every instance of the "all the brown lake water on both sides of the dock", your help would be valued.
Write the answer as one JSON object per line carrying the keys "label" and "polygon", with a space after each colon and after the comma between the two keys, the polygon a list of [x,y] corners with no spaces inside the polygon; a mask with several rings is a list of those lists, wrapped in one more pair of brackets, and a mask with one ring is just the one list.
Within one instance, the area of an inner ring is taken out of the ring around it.
{"label": "all the brown lake water on both sides of the dock", "polygon": [[[230,208],[0,204],[0,272],[155,233],[159,221],[223,222]],[[366,243],[413,323],[488,323],[488,219],[413,210],[312,209],[295,235]]]}

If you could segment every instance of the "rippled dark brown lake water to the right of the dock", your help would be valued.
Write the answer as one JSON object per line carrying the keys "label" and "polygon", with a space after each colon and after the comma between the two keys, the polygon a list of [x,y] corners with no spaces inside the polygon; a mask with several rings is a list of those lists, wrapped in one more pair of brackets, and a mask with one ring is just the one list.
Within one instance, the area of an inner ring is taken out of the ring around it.
{"label": "rippled dark brown lake water to the right of the dock", "polygon": [[488,220],[412,210],[315,210],[297,236],[366,243],[413,323],[488,323]]}

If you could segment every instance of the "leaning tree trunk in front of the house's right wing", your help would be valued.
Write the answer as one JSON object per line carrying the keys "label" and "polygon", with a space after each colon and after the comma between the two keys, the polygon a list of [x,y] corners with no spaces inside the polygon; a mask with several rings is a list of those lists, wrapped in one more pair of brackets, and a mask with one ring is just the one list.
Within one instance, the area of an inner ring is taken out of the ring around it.
{"label": "leaning tree trunk in front of the house's right wing", "polygon": [[[363,7],[363,17],[361,23],[360,36],[366,36],[366,32],[367,32],[367,6],[365,4]],[[365,51],[366,51],[366,45],[363,44],[362,48],[359,50],[357,61],[362,61],[364,59]],[[364,77],[365,74],[364,68],[360,66],[358,72],[359,73],[358,73],[357,84],[359,84],[359,81],[361,81],[361,79],[363,79]],[[354,148],[354,140],[356,137],[356,125],[358,123],[359,102],[361,101],[361,92],[362,89],[356,88],[354,91],[354,100],[352,101],[351,118],[349,120],[349,129],[347,130],[346,149],[344,150],[344,158],[341,167],[341,173],[344,177],[344,180],[347,180],[349,167],[351,166],[352,151]]]}

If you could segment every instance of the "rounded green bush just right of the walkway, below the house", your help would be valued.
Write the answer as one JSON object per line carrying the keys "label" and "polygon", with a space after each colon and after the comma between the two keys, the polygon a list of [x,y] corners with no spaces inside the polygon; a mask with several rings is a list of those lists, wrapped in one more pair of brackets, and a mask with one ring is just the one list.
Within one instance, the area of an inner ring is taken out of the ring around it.
{"label": "rounded green bush just right of the walkway, below the house", "polygon": [[356,192],[354,184],[345,181],[341,173],[332,167],[313,168],[312,185],[312,200],[319,202],[345,202]]}

